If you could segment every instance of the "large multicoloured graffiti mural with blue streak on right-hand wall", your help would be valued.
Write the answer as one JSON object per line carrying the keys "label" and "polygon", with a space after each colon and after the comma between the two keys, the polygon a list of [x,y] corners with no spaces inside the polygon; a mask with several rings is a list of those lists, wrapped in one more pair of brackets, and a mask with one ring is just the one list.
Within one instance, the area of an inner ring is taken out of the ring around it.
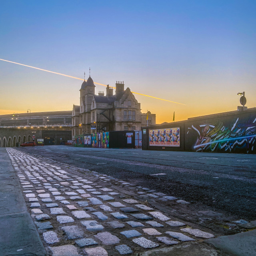
{"label": "large multicoloured graffiti mural with blue streak on right-hand wall", "polygon": [[[223,122],[222,122],[223,121]],[[187,134],[196,152],[256,151],[256,117],[236,117],[232,120],[196,123],[188,127]],[[196,134],[196,136],[194,136]]]}

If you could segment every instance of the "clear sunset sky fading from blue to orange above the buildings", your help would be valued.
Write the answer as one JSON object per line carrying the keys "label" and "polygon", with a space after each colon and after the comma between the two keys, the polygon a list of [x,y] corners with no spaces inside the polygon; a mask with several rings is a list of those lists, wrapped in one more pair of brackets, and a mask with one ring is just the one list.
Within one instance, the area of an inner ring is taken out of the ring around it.
{"label": "clear sunset sky fading from blue to orange above the buildings", "polygon": [[[2,1],[0,58],[125,88],[157,123],[256,107],[256,1]],[[72,110],[82,81],[0,61],[0,114]],[[106,92],[96,86],[96,92]]]}

